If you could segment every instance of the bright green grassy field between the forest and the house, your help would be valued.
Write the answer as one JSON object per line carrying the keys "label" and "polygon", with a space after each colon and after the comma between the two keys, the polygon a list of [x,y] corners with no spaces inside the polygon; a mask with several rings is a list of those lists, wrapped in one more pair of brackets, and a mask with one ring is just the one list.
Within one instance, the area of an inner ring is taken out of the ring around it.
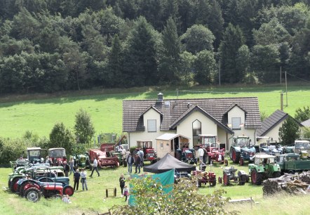
{"label": "bright green grassy field between the forest and the house", "polygon": [[[217,87],[181,90],[175,89],[119,89],[81,91],[62,94],[34,94],[24,96],[2,96],[0,98],[0,136],[21,137],[25,131],[47,136],[57,122],[73,130],[76,112],[86,110],[100,133],[122,132],[122,100],[156,99],[162,92],[165,98],[230,98],[257,96],[260,111],[271,115],[280,109],[281,92],[284,86]],[[288,86],[288,106],[283,96],[284,111],[295,115],[298,107],[310,106],[310,86],[295,84]]]}

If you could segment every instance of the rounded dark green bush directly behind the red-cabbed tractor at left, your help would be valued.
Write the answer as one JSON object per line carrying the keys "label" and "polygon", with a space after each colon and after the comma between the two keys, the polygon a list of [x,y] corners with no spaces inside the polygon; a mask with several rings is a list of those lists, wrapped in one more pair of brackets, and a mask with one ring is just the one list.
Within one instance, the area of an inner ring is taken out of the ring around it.
{"label": "rounded dark green bush directly behind the red-cabbed tractor at left", "polygon": [[48,148],[65,148],[66,154],[70,155],[74,145],[75,140],[72,132],[66,129],[62,122],[55,124],[50,132],[50,143],[48,144]]}

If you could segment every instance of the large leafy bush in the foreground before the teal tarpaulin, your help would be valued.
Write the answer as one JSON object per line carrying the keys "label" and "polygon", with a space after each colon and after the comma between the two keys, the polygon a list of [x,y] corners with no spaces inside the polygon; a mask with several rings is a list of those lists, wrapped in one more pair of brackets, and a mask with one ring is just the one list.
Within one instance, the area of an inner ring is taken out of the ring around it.
{"label": "large leafy bush in the foreground before the teal tarpaulin", "polygon": [[173,185],[170,193],[163,192],[161,183],[150,176],[144,178],[130,178],[130,195],[135,195],[135,206],[114,206],[112,214],[237,214],[236,211],[227,212],[224,204],[229,199],[222,198],[224,190],[215,190],[213,194],[198,194],[196,178],[181,178]]}

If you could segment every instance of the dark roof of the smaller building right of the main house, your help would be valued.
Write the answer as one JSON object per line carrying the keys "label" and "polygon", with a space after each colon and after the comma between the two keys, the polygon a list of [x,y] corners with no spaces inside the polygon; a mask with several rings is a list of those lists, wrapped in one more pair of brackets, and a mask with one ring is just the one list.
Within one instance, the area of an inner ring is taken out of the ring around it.
{"label": "dark roof of the smaller building right of the main house", "polygon": [[262,122],[262,128],[257,129],[257,136],[264,136],[268,131],[270,131],[274,126],[282,122],[284,119],[288,118],[288,114],[282,110],[276,110],[272,115],[264,119]]}

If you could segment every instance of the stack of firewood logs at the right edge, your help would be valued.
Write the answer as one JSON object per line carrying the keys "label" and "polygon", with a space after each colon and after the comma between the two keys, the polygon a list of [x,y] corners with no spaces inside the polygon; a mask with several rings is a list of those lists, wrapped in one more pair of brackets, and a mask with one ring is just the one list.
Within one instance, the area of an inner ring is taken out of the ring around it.
{"label": "stack of firewood logs at the right edge", "polygon": [[299,175],[284,174],[279,178],[269,178],[263,182],[264,195],[274,195],[281,191],[290,194],[306,194],[310,185],[310,172]]}

